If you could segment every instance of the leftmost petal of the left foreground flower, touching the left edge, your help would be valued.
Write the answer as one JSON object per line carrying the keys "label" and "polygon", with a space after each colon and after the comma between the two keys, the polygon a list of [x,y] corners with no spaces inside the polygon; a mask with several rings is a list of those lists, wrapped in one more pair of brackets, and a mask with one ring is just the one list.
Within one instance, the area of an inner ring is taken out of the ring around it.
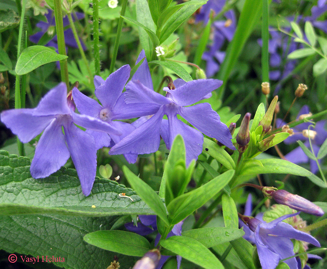
{"label": "leftmost petal of the left foreground flower, touching the left edge", "polygon": [[1,112],[1,121],[16,134],[20,141],[27,143],[53,120],[53,116],[33,116],[35,109],[9,109]]}

